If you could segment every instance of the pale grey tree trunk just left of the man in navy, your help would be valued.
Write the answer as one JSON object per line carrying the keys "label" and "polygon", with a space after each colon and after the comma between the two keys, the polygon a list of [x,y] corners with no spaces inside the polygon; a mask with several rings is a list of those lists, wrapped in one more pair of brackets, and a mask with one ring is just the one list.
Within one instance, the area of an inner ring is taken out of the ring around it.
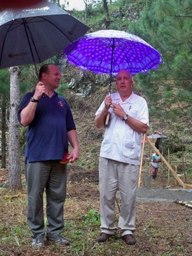
{"label": "pale grey tree trunk just left of the man in navy", "polygon": [[9,68],[10,72],[10,113],[8,124],[8,187],[11,189],[22,188],[19,138],[18,138],[18,67]]}

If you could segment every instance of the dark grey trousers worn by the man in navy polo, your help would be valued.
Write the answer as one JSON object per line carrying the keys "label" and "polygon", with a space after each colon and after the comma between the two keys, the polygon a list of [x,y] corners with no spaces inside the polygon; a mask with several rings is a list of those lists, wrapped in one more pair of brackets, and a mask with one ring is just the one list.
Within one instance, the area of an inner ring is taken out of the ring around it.
{"label": "dark grey trousers worn by the man in navy polo", "polygon": [[46,234],[58,237],[64,228],[67,167],[59,161],[25,164],[28,193],[28,225],[32,238],[45,235],[44,191],[46,193]]}

